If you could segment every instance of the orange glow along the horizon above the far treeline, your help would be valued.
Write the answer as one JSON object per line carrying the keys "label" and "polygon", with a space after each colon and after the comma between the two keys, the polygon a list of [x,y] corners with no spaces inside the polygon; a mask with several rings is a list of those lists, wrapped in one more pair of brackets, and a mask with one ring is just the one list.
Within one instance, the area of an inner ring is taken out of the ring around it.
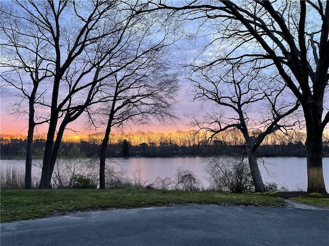
{"label": "orange glow along the horizon above the far treeline", "polygon": [[[141,144],[161,146],[162,144],[174,144],[178,146],[193,146],[198,145],[206,139],[209,139],[210,135],[205,132],[198,132],[196,130],[189,131],[176,131],[173,133],[154,133],[151,131],[143,132],[129,132],[129,133],[111,133],[109,137],[109,144],[118,144],[123,140],[127,140],[133,146],[139,146]],[[305,131],[291,132],[291,136],[287,137],[284,134],[272,134],[267,136],[262,145],[284,145],[288,143],[302,142],[304,144],[306,140]],[[23,134],[0,134],[2,144],[8,144],[12,139],[26,139]],[[46,139],[46,135],[37,135],[34,139]],[[329,131],[325,130],[323,139],[329,139]],[[64,135],[63,142],[80,142],[86,141],[100,145],[103,140],[103,133],[92,133],[92,134],[75,134],[75,135]],[[213,142],[225,143],[227,145],[244,145],[245,140],[239,131],[226,131],[218,133],[213,137]]]}

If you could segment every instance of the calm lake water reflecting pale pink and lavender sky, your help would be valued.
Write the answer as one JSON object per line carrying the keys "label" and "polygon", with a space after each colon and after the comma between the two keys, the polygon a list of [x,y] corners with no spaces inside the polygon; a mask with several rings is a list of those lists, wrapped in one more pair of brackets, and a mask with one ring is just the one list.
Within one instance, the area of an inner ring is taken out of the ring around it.
{"label": "calm lake water reflecting pale pink and lavender sky", "polygon": [[[90,161],[90,159],[84,159]],[[40,163],[41,160],[34,160]],[[175,176],[178,168],[190,170],[200,180],[204,187],[209,186],[207,174],[204,172],[204,157],[132,157],[107,159],[108,163],[115,165],[117,170],[123,170],[126,176],[138,175],[143,181],[154,181],[157,177],[166,178]],[[24,160],[1,160],[1,166],[18,167],[24,170]],[[305,157],[264,157],[259,161],[259,167],[264,182],[275,182],[278,187],[289,190],[306,190],[307,172]],[[33,167],[36,175],[40,169]],[[323,176],[327,191],[329,192],[329,158],[323,158]]]}

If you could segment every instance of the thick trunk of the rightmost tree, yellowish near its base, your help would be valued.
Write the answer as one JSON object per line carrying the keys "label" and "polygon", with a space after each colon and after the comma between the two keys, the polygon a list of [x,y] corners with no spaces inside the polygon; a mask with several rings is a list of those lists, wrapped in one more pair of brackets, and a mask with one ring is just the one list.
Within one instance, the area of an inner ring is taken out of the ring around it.
{"label": "thick trunk of the rightmost tree, yellowish near its base", "polygon": [[318,109],[316,103],[312,105],[308,104],[304,108],[306,119],[307,192],[326,193],[322,171],[322,110]]}

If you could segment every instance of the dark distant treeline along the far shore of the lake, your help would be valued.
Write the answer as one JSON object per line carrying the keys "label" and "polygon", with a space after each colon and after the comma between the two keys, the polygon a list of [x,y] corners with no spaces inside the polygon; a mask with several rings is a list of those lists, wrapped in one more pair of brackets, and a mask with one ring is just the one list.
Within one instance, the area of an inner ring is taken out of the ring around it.
{"label": "dark distant treeline along the far shore of the lake", "polygon": [[[45,140],[36,139],[33,145],[33,157],[42,158]],[[25,158],[26,140],[11,139],[2,141],[1,158]],[[74,150],[79,150],[85,157],[99,156],[100,144],[96,141],[62,142],[59,157],[75,157]],[[230,145],[223,141],[200,142],[190,146],[179,146],[172,142],[161,142],[158,145],[142,142],[132,145],[123,139],[118,143],[109,143],[107,157],[143,156],[143,157],[170,157],[170,156],[212,156],[212,155],[243,155],[244,145]],[[72,154],[73,153],[73,154]],[[329,156],[329,141],[323,142],[324,156]],[[306,156],[302,142],[288,144],[262,145],[258,148],[260,156]]]}

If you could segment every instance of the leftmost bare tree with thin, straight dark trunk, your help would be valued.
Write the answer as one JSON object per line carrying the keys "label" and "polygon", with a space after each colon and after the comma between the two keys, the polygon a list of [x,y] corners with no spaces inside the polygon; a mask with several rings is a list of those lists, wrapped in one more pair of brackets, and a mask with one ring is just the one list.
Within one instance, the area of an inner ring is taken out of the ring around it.
{"label": "leftmost bare tree with thin, straight dark trunk", "polygon": [[[31,189],[33,135],[36,125],[47,122],[47,115],[35,112],[36,104],[44,101],[46,81],[52,76],[44,69],[52,58],[51,47],[43,34],[33,25],[32,16],[6,4],[1,5],[1,66],[2,88],[12,87],[21,99],[11,105],[10,113],[17,117],[28,115],[28,135],[25,163],[25,189]],[[33,39],[33,42],[31,42]],[[10,92],[11,88],[8,89]],[[24,101],[27,100],[27,106]],[[40,107],[39,107],[40,108]]]}

